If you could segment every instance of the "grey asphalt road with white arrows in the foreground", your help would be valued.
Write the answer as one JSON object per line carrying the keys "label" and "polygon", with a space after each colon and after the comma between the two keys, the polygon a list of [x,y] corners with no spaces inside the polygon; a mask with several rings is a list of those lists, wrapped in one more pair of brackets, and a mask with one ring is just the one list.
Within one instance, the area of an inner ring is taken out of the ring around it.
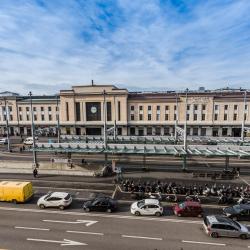
{"label": "grey asphalt road with white arrows in the foreground", "polygon": [[135,217],[114,214],[40,210],[33,205],[0,204],[0,248],[88,250],[247,249],[250,240],[212,239],[202,220],[174,216]]}

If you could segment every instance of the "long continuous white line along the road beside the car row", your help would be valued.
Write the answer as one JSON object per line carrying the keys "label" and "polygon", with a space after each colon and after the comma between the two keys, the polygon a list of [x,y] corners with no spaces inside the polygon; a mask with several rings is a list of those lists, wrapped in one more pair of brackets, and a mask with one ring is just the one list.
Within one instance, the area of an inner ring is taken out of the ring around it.
{"label": "long continuous white line along the road beside the car row", "polygon": [[14,208],[14,207],[0,207],[0,210],[16,211],[16,212],[32,212],[42,214],[58,214],[58,215],[75,215],[75,216],[87,216],[87,217],[100,217],[100,218],[115,218],[115,219],[129,219],[129,220],[142,220],[142,221],[158,221],[158,222],[173,222],[173,223],[187,223],[187,224],[199,224],[203,222],[200,220],[179,220],[179,219],[163,219],[153,217],[136,217],[130,215],[115,215],[115,214],[96,214],[96,213],[84,213],[84,212],[63,212],[58,210],[39,210],[29,208]]}

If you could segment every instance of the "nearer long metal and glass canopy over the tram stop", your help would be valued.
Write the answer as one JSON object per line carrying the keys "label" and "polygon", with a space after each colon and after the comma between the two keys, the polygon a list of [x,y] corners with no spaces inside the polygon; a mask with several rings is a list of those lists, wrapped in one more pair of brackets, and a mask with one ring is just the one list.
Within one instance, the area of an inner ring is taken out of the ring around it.
{"label": "nearer long metal and glass canopy over the tram stop", "polygon": [[[28,149],[32,150],[32,148]],[[250,158],[249,146],[237,145],[189,145],[185,151],[182,145],[155,144],[104,144],[95,143],[37,143],[37,152],[58,153],[107,153],[107,154],[137,154],[137,155],[175,155],[175,156],[232,156]]]}

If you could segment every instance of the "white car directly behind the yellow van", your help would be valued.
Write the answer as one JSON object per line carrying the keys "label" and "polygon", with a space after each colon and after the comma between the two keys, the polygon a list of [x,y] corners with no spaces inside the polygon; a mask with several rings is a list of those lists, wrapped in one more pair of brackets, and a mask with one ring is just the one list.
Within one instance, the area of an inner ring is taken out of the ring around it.
{"label": "white car directly behind the yellow van", "polygon": [[72,197],[66,192],[52,192],[39,198],[37,205],[40,208],[58,207],[63,210],[72,203]]}

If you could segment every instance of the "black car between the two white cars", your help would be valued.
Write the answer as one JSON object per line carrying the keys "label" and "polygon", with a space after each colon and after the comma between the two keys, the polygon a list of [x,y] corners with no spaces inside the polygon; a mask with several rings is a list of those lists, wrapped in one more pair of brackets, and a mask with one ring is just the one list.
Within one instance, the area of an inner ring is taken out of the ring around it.
{"label": "black car between the two white cars", "polygon": [[117,201],[110,197],[97,197],[83,203],[86,212],[98,211],[111,213],[117,209]]}

